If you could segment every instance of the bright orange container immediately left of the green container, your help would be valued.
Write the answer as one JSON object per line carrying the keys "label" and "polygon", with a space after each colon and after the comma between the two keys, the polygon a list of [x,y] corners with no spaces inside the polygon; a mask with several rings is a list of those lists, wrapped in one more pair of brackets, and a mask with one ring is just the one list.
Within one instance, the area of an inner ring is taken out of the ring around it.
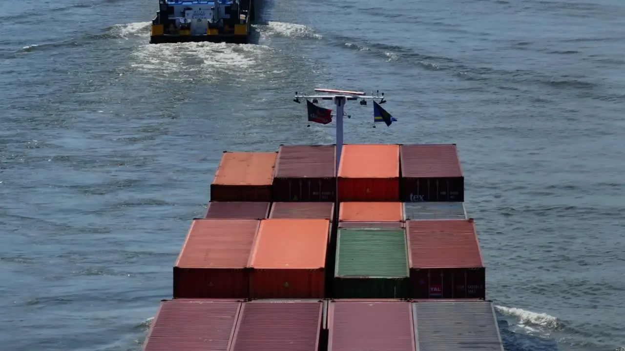
{"label": "bright orange container immediately left of the green container", "polygon": [[249,266],[252,299],[324,297],[327,219],[264,219]]}

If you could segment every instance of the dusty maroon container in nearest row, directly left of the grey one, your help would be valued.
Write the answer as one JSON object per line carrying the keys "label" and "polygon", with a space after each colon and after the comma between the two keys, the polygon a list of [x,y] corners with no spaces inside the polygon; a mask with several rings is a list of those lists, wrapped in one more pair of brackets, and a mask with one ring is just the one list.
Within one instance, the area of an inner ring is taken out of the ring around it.
{"label": "dusty maroon container in nearest row, directly left of the grey one", "polygon": [[406,301],[331,301],[327,351],[415,350],[412,305]]}

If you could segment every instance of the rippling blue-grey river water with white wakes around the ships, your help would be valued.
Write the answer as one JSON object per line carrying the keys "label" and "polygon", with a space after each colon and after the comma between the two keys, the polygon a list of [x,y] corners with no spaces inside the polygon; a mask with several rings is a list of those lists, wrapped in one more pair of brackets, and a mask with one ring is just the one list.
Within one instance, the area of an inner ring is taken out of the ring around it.
{"label": "rippling blue-grey river water with white wakes around the ships", "polygon": [[622,1],[267,0],[245,46],[157,6],[0,4],[0,349],[139,350],[221,151],[332,143],[322,86],[399,120],[346,142],[457,144],[507,351],[625,346]]}

